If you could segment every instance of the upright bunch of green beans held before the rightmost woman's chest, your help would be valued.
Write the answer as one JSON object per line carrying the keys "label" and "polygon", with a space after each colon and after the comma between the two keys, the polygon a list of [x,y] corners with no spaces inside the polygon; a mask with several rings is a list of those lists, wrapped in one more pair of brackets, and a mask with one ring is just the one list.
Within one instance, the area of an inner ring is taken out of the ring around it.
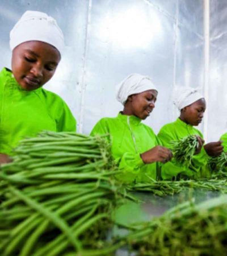
{"label": "upright bunch of green beans held before the rightmost woman's chest", "polygon": [[190,166],[199,142],[195,135],[186,136],[179,141],[171,141],[170,149],[173,152],[176,163]]}

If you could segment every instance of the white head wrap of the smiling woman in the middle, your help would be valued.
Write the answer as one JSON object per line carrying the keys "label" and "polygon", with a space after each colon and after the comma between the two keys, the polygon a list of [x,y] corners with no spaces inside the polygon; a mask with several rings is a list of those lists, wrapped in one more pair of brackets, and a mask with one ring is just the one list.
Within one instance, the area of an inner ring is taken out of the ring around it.
{"label": "white head wrap of the smiling woman in the middle", "polygon": [[150,77],[136,73],[131,74],[116,86],[116,98],[117,101],[124,105],[128,96],[145,92],[146,90],[157,90]]}

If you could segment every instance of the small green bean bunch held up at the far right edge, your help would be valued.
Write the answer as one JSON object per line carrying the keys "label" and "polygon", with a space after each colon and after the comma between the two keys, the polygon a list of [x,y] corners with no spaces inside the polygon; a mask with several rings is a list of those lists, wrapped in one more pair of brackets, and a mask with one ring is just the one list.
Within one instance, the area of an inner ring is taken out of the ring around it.
{"label": "small green bean bunch held up at the far right edge", "polygon": [[208,166],[212,172],[223,172],[227,169],[227,155],[222,152],[221,155],[209,158]]}

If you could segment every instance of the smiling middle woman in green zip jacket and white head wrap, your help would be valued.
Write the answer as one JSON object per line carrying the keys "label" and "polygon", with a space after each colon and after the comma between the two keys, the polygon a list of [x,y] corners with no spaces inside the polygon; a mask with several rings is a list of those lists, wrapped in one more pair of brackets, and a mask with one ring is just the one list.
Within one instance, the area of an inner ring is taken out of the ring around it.
{"label": "smiling middle woman in green zip jacket and white head wrap", "polygon": [[157,94],[148,76],[129,75],[117,87],[123,111],[115,118],[100,119],[91,131],[91,135],[110,134],[113,158],[123,170],[118,178],[126,183],[156,179],[157,163],[171,159],[171,151],[159,146],[154,131],[141,122],[152,113]]}

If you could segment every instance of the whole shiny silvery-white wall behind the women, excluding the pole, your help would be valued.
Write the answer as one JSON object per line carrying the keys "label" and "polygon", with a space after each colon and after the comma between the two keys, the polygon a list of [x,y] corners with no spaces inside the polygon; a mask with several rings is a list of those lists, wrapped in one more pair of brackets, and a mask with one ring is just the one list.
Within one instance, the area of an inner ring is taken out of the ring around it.
{"label": "whole shiny silvery-white wall behind the women, excluding the pole", "polygon": [[[227,3],[213,0],[211,7],[210,84],[215,86],[209,89],[209,140],[224,132],[223,105],[227,108],[221,52]],[[204,85],[203,0],[0,0],[1,68],[10,67],[9,31],[26,10],[52,15],[65,34],[65,54],[45,88],[64,98],[78,131],[88,134],[100,118],[123,109],[115,86],[130,73],[149,75],[159,89],[145,121],[156,133],[177,117],[174,86]],[[221,97],[218,103],[214,96]]]}

